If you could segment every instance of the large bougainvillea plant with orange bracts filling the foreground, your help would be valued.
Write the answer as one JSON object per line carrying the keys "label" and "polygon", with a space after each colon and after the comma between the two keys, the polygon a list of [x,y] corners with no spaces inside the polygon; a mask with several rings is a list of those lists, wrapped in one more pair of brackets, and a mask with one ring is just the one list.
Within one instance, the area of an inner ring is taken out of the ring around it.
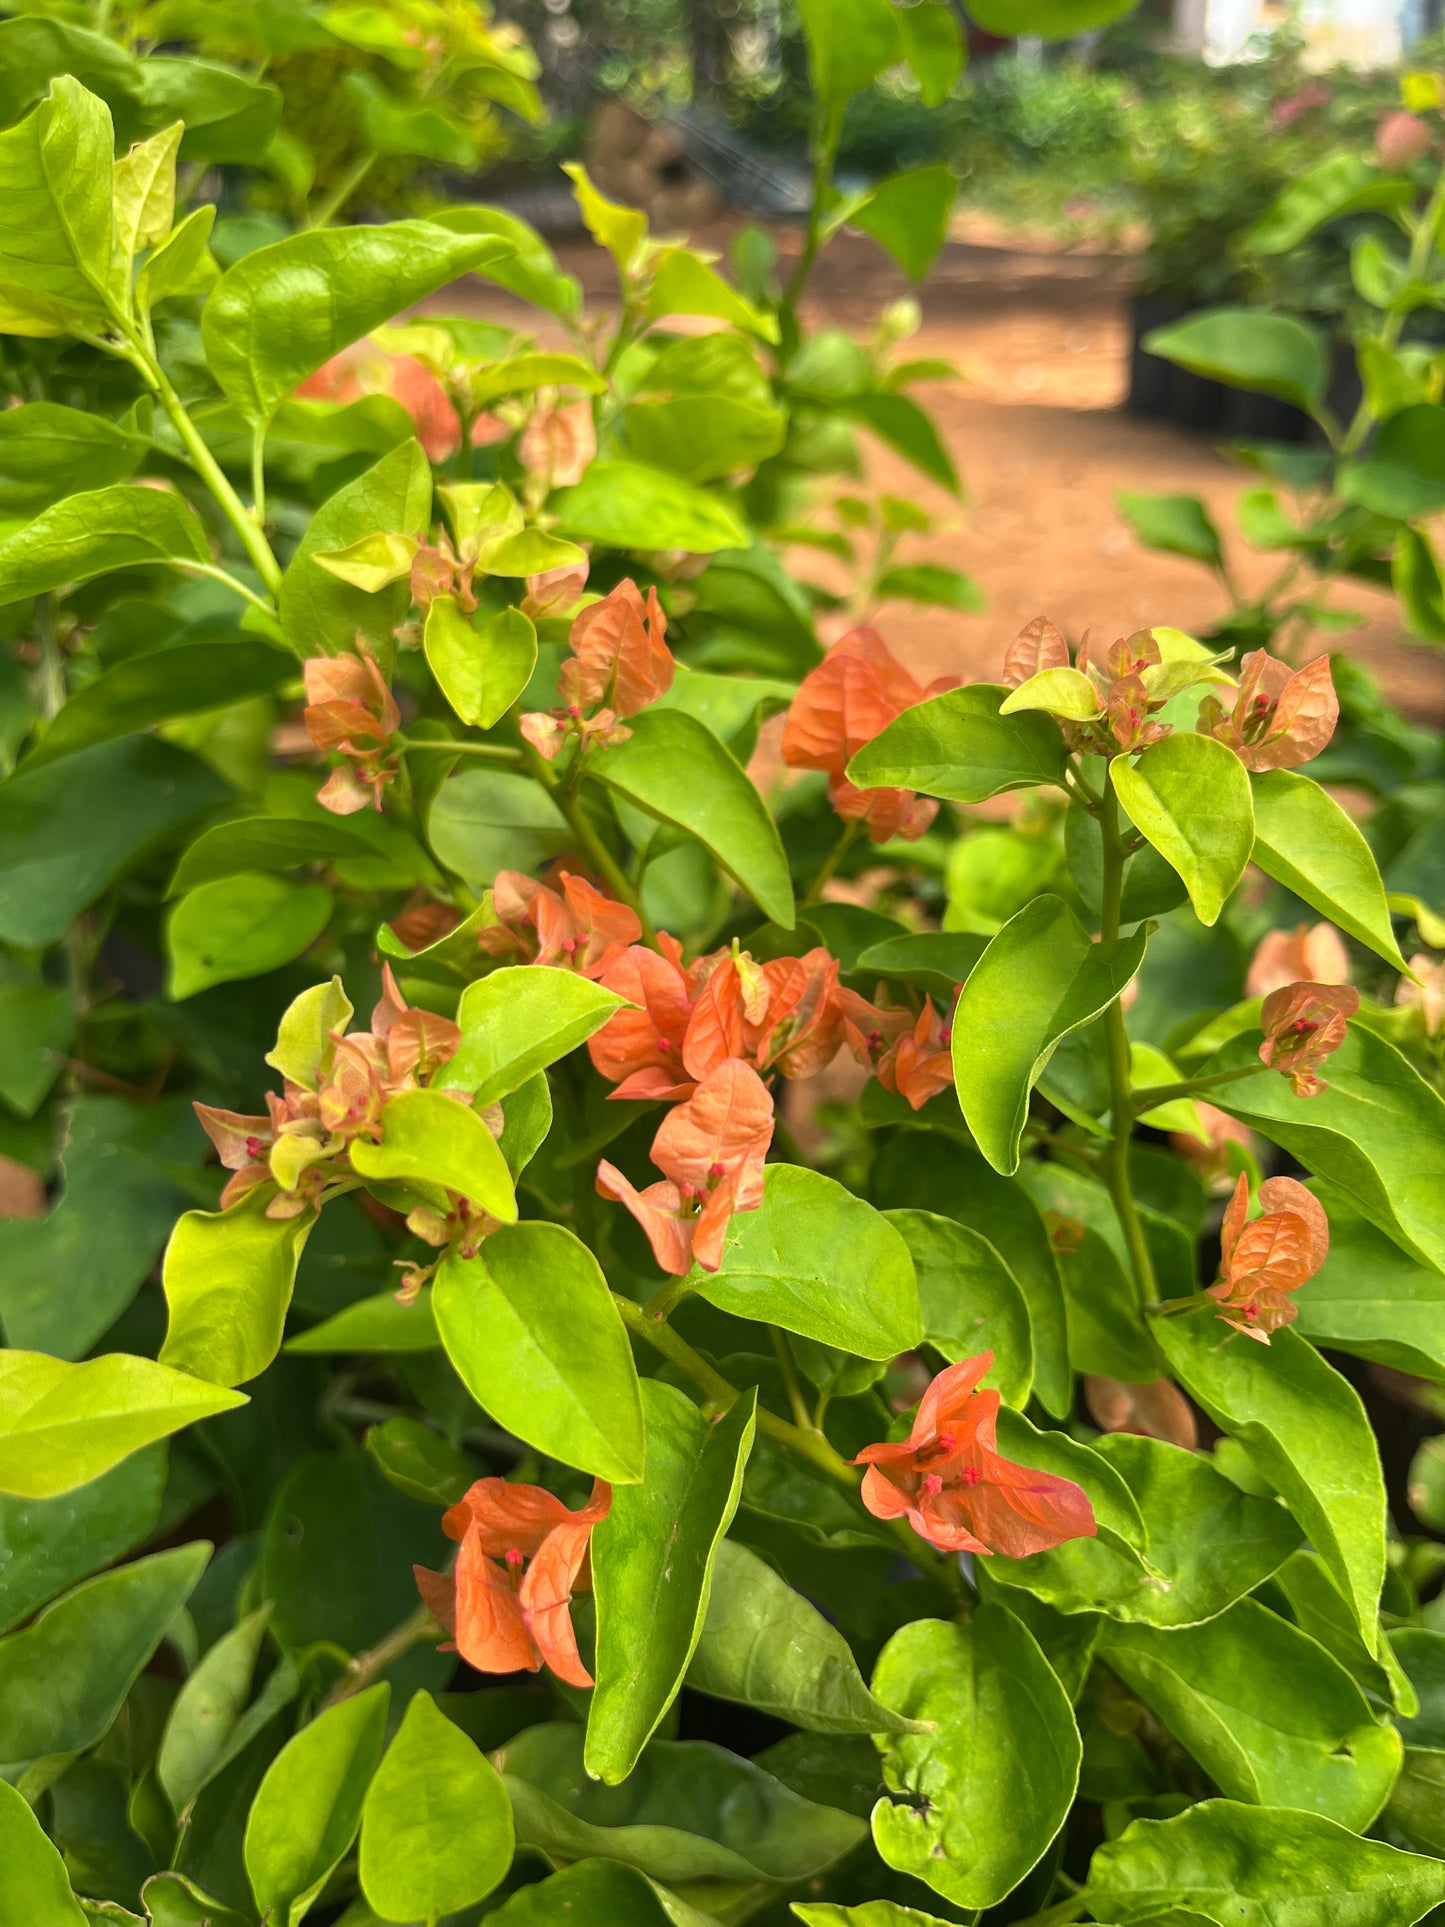
{"label": "large bougainvillea plant with orange bracts filling the foreground", "polygon": [[487,210],[218,274],[73,77],[0,131],[6,1927],[1445,1906],[1358,1389],[1445,1386],[1437,971],[1327,665],[819,644],[805,484],[952,480],[896,318],[798,322],[936,170],[828,156],[958,33],[803,12],[798,274],[576,170],[607,318]]}

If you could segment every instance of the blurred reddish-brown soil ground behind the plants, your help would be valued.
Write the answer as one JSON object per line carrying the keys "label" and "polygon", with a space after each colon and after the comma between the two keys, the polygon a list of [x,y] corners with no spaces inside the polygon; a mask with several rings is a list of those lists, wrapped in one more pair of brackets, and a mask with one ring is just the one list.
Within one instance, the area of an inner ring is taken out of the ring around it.
{"label": "blurred reddish-brown soil ground behind the plants", "polygon": [[[696,239],[722,249],[728,235]],[[782,233],[778,245],[796,247],[796,237]],[[590,301],[605,304],[605,256],[584,243],[565,243],[559,254]],[[958,368],[956,380],[915,393],[963,474],[965,501],[921,482],[884,449],[869,459],[869,482],[936,515],[936,530],[913,538],[906,559],[969,570],[988,611],[886,607],[880,626],[915,671],[994,674],[1008,640],[1038,613],[1071,636],[1092,624],[1114,638],[1150,622],[1198,630],[1225,611],[1227,597],[1208,570],[1141,549],[1114,507],[1121,488],[1200,495],[1227,532],[1231,503],[1248,486],[1206,437],[1123,412],[1131,279],[1123,254],[946,245],[907,353],[944,356]],[[902,274],[869,241],[844,235],[817,270],[807,318],[867,333],[882,304],[904,293]],[[518,322],[528,312],[501,295],[487,295],[486,306]],[[803,572],[827,576],[827,559],[798,561]],[[1245,592],[1277,570],[1275,557],[1239,538],[1229,541],[1229,561]],[[1362,626],[1316,636],[1304,653],[1349,649],[1412,715],[1445,723],[1445,649],[1410,644],[1383,592],[1351,584],[1335,592],[1335,603],[1362,615]]]}

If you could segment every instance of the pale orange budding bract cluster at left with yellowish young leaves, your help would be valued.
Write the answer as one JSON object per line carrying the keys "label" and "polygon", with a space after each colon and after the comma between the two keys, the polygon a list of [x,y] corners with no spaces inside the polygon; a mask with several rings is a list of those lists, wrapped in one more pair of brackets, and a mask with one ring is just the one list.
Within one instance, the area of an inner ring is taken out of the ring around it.
{"label": "pale orange budding bract cluster at left with yellowish young leaves", "polygon": [[[264,1183],[279,1185],[266,1206],[268,1218],[297,1218],[316,1206],[328,1183],[351,1175],[351,1141],[380,1139],[387,1100],[426,1085],[451,1062],[459,1043],[460,1031],[449,1017],[407,1008],[383,964],[372,1029],[329,1033],[314,1091],[287,1077],[279,1096],[266,1093],[266,1118],[195,1106],[222,1164],[235,1174],[222,1191],[222,1210]],[[470,1093],[457,1095],[470,1102]]]}

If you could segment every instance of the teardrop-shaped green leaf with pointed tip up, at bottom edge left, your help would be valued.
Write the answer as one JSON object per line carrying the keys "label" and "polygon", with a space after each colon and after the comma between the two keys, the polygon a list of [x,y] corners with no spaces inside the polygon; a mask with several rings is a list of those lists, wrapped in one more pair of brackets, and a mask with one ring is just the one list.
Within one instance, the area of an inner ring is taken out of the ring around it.
{"label": "teardrop-shaped green leaf with pointed tip up, at bottom edge left", "polygon": [[439,1921],[484,1900],[512,1863],[512,1809],[497,1769],[418,1692],[376,1769],[360,1883],[383,1919]]}

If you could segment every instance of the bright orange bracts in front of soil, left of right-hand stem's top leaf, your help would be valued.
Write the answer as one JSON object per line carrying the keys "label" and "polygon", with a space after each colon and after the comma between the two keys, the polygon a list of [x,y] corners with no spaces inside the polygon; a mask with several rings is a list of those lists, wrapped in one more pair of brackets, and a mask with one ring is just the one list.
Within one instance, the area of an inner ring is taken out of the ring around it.
{"label": "bright orange bracts in front of soil, left of right-hand stem's top leaf", "polygon": [[894,717],[952,688],[958,676],[938,676],[927,688],[909,676],[875,628],[850,630],[798,686],[782,730],[782,761],[825,771],[832,807],[846,821],[861,821],[873,842],[921,836],[938,815],[933,798],[859,790],[846,769]]}

